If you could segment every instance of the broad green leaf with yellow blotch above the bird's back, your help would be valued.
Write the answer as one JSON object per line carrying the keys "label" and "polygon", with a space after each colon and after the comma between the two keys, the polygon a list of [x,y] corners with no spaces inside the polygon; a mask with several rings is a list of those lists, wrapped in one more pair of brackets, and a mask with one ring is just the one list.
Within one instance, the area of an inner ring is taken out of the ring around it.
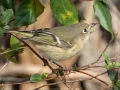
{"label": "broad green leaf with yellow blotch above the bird's back", "polygon": [[53,14],[61,24],[78,23],[78,10],[70,0],[50,0],[50,6]]}

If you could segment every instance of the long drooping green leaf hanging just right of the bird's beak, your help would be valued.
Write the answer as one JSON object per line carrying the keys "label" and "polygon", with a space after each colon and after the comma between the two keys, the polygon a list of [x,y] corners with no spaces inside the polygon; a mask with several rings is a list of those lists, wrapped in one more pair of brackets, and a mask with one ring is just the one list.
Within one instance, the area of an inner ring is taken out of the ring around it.
{"label": "long drooping green leaf hanging just right of the bird's beak", "polygon": [[100,22],[100,24],[111,33],[112,39],[114,38],[113,29],[112,29],[112,17],[108,9],[108,4],[105,1],[94,0],[94,12],[95,16]]}

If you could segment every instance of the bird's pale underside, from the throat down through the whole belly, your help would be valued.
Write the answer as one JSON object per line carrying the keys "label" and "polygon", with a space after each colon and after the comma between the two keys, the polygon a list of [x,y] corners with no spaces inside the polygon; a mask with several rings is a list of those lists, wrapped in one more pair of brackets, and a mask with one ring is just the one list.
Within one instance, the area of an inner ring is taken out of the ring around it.
{"label": "bird's pale underside, from the throat down through the whole belly", "polygon": [[75,39],[72,43],[72,47],[70,48],[60,48],[57,46],[51,45],[36,45],[36,48],[39,49],[39,53],[41,56],[47,58],[48,60],[53,61],[64,61],[70,59],[75,54],[77,54],[87,42],[87,39]]}

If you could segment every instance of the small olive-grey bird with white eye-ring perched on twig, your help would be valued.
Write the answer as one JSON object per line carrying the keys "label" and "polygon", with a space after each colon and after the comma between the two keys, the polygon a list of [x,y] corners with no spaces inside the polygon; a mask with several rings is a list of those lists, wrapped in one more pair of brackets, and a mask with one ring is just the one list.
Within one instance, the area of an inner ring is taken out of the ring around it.
{"label": "small olive-grey bird with white eye-ring perched on twig", "polygon": [[30,31],[8,31],[22,35],[29,40],[42,57],[50,61],[64,61],[77,54],[88,41],[91,29],[95,26],[78,23],[70,26],[46,28]]}

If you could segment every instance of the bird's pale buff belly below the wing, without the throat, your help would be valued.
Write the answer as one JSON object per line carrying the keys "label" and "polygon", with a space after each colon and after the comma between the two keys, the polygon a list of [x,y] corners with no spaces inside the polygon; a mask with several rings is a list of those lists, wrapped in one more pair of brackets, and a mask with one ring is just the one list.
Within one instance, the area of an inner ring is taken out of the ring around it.
{"label": "bird's pale buff belly below the wing, without the throat", "polygon": [[70,59],[80,50],[78,48],[75,50],[74,47],[63,49],[60,47],[55,47],[50,45],[39,45],[39,46],[36,45],[36,48],[39,49],[39,53],[42,57],[57,62]]}

